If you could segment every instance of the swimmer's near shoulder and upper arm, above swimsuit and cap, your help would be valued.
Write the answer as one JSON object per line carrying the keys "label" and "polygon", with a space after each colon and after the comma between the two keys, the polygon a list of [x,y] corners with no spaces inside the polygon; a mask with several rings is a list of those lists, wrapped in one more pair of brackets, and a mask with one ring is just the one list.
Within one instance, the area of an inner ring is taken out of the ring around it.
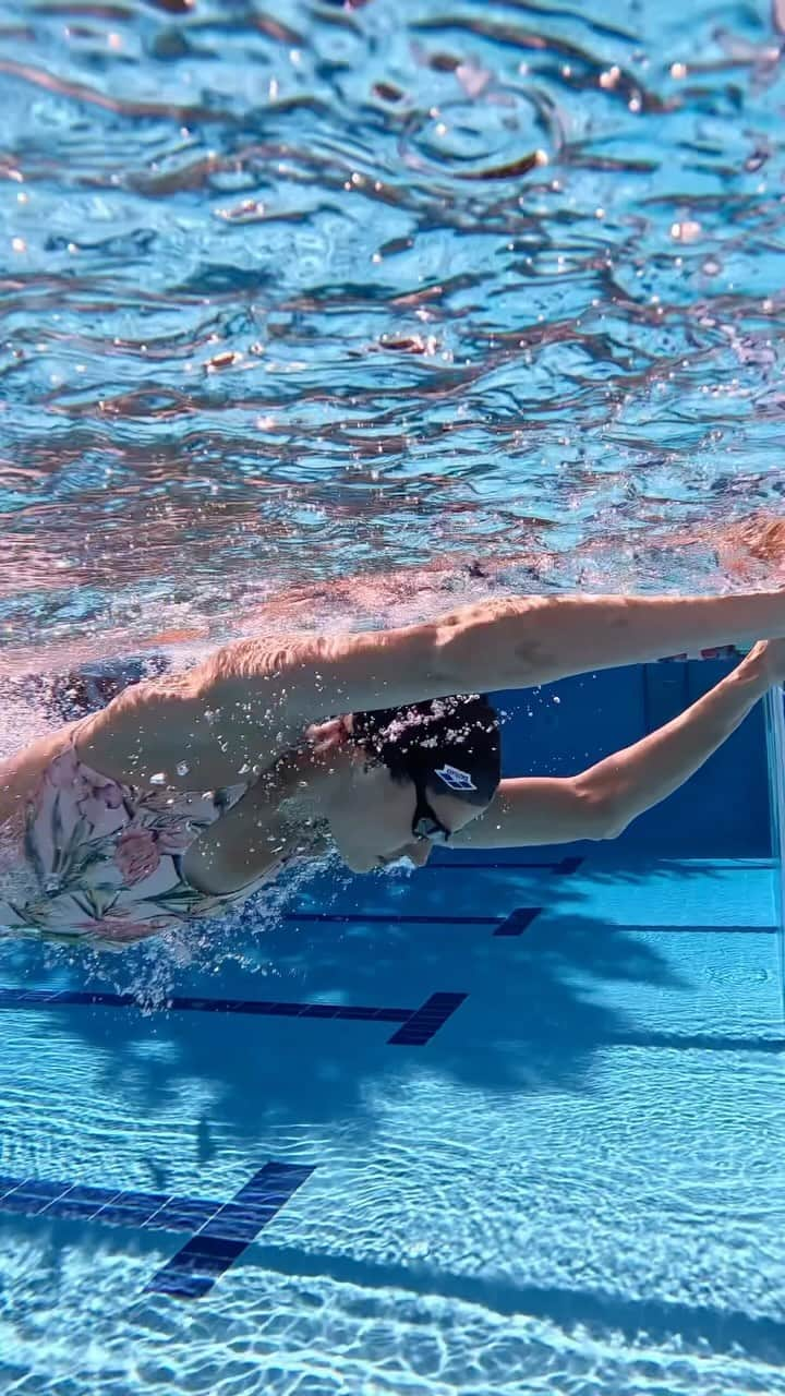
{"label": "swimmer's near shoulder and upper arm, above swimsuit and cap", "polygon": [[453,691],[434,625],[237,639],[187,674],[127,688],[80,725],[78,751],[133,785],[163,775],[215,789],[270,765],[310,722]]}

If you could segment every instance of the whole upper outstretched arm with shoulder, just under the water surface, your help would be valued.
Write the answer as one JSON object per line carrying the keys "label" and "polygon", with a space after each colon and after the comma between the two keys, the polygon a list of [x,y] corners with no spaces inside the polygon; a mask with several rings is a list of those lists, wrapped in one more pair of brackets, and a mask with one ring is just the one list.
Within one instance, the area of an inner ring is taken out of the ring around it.
{"label": "whole upper outstretched arm with shoulder, just under the water surface", "polygon": [[[236,639],[191,670],[120,694],[80,738],[95,769],[201,787],[242,779],[303,726],[454,692],[527,688],[785,632],[785,592],[522,596],[398,630]],[[172,766],[183,765],[182,778]],[[659,799],[659,797],[658,797]],[[654,801],[652,801],[654,803]]]}

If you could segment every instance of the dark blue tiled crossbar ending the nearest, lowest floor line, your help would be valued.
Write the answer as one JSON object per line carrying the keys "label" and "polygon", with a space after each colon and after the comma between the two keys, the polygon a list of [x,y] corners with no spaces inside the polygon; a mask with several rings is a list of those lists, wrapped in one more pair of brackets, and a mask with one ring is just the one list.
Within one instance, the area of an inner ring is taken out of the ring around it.
{"label": "dark blue tiled crossbar ending the nearest, lowest floor line", "polygon": [[265,1164],[152,1276],[144,1293],[177,1298],[207,1294],[311,1173],[307,1164]]}

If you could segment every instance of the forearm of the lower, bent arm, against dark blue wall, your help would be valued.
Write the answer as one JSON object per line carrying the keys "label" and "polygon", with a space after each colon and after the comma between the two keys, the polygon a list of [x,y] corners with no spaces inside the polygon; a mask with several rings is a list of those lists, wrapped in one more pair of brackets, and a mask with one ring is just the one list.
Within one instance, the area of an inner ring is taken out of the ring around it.
{"label": "forearm of the lower, bent arm, against dark blue wall", "polygon": [[771,688],[765,645],[756,648],[686,712],[641,741],[575,778],[578,787],[612,811],[615,832],[672,794],[731,736]]}

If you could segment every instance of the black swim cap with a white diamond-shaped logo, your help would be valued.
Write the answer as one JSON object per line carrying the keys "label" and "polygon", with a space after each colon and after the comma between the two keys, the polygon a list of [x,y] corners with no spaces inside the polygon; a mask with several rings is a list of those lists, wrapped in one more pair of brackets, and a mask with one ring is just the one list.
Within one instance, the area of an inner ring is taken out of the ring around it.
{"label": "black swim cap with a white diamond-shaped logo", "polygon": [[486,694],[352,713],[352,737],[394,780],[490,804],[501,776],[499,716]]}

